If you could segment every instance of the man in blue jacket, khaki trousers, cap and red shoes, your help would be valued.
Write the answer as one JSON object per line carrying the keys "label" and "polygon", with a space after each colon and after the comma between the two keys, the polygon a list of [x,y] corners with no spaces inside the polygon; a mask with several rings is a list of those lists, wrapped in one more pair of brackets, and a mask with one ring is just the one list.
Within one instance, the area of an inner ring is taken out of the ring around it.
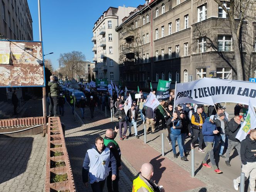
{"label": "man in blue jacket, khaki trousers, cap and red shoes", "polygon": [[216,166],[216,162],[214,159],[214,152],[212,149],[215,135],[217,133],[219,133],[219,131],[216,129],[216,125],[214,124],[214,120],[216,120],[216,117],[214,115],[211,115],[210,119],[209,120],[206,119],[202,126],[202,133],[204,135],[204,143],[206,145],[206,147],[205,147],[206,154],[203,159],[202,166],[211,168],[211,166],[207,164],[207,159],[210,155],[210,160],[211,160],[214,172],[216,172],[217,174],[220,174],[220,173],[222,173],[222,171],[219,170],[218,167]]}

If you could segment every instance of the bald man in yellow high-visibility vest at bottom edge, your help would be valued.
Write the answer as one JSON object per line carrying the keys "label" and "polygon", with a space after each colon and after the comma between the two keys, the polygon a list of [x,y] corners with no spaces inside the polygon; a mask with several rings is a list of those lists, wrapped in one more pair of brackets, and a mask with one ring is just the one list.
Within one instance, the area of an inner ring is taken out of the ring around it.
{"label": "bald man in yellow high-visibility vest at bottom edge", "polygon": [[141,166],[140,169],[141,174],[133,180],[133,192],[164,192],[165,190],[151,178],[153,177],[154,174],[154,168],[152,164],[150,163],[145,163]]}

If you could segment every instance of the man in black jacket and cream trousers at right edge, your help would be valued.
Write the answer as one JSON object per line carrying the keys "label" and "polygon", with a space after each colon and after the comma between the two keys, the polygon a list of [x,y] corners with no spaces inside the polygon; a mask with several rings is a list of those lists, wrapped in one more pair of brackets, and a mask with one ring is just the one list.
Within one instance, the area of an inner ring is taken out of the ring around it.
{"label": "man in black jacket and cream trousers at right edge", "polygon": [[[250,191],[255,190],[256,179],[256,129],[252,129],[250,135],[246,136],[241,142],[241,161],[243,164],[242,172],[245,174],[245,179],[250,176]],[[233,180],[235,190],[239,190],[240,177]]]}

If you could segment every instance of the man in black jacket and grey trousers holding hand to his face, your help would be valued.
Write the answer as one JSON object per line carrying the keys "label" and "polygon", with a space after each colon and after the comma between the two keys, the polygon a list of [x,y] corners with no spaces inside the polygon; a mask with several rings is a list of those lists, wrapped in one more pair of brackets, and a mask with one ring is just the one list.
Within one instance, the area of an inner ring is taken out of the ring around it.
{"label": "man in black jacket and grey trousers holding hand to his face", "polygon": [[[241,127],[241,119],[239,117],[239,115],[235,115],[234,118],[232,118],[230,120],[230,122],[227,124],[227,134],[229,136],[229,140],[228,140],[228,147],[227,147],[227,151],[226,151],[226,160],[225,163],[227,166],[231,166],[229,163],[229,155],[231,150],[236,147],[237,153],[240,157],[240,142],[238,139],[236,139],[236,134],[239,131]],[[226,130],[225,130],[226,132]]]}

